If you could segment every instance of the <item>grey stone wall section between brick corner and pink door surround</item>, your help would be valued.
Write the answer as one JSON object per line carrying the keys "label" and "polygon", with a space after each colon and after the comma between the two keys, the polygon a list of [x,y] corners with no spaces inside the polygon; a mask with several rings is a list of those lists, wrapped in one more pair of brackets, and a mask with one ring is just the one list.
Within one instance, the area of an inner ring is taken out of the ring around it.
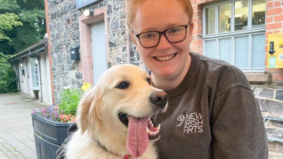
{"label": "grey stone wall section between brick corner and pink door surround", "polygon": [[50,57],[54,85],[53,96],[58,100],[64,86],[81,87],[81,73],[71,60],[70,47],[79,46],[78,15],[73,0],[47,0],[50,32]]}

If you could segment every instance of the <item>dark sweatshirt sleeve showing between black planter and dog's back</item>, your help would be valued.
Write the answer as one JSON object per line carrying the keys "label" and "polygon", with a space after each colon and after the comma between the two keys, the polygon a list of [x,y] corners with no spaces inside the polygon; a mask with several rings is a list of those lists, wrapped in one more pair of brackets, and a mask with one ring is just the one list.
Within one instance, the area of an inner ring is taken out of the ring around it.
{"label": "dark sweatshirt sleeve showing between black planter and dog's back", "polygon": [[65,141],[62,143],[60,148],[56,151],[56,159],[64,159],[65,158],[65,151],[66,151],[66,145],[71,140],[71,134],[75,131],[77,131],[78,127],[76,123],[73,123],[68,128],[68,137],[65,139]]}

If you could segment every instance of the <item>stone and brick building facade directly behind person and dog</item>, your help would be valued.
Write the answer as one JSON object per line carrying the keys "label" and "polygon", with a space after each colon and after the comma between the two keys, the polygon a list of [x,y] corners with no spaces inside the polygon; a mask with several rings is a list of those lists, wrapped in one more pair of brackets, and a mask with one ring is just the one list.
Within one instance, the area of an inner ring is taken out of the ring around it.
{"label": "stone and brick building facade directly behind person and dog", "polygon": [[[45,0],[48,58],[53,102],[64,86],[95,84],[112,65],[143,67],[125,22],[124,0]],[[191,50],[225,60],[250,81],[263,116],[270,147],[283,152],[283,69],[267,68],[268,35],[283,33],[282,0],[191,0]],[[86,17],[86,9],[93,16]],[[80,60],[71,60],[79,47]],[[209,50],[209,51],[208,51]],[[128,58],[129,57],[129,58]],[[268,120],[269,118],[272,119]]]}

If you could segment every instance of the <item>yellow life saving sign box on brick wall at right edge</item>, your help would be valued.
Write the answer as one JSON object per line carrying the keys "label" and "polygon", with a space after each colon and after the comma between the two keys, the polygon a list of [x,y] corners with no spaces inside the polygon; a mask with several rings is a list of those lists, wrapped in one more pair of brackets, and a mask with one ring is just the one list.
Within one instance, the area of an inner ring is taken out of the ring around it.
{"label": "yellow life saving sign box on brick wall at right edge", "polygon": [[283,33],[268,35],[267,68],[283,68]]}

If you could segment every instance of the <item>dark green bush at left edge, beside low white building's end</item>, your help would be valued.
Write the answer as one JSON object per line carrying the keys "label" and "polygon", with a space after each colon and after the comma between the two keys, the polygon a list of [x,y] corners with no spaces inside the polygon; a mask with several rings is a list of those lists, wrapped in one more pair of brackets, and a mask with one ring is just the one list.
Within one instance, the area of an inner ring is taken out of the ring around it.
{"label": "dark green bush at left edge, beside low white building's end", "polygon": [[7,59],[9,55],[0,53],[0,93],[17,92],[16,73]]}

